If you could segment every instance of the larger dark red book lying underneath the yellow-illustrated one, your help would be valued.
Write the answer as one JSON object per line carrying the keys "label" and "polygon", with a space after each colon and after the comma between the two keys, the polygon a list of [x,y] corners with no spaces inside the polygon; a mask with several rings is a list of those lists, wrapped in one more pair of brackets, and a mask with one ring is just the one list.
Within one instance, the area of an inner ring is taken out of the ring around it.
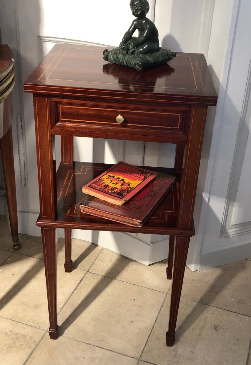
{"label": "larger dark red book lying underneath the yellow-illustrated one", "polygon": [[152,180],[123,206],[119,207],[88,195],[80,204],[80,209],[82,213],[128,226],[142,227],[174,183],[174,176],[158,173],[155,180]]}

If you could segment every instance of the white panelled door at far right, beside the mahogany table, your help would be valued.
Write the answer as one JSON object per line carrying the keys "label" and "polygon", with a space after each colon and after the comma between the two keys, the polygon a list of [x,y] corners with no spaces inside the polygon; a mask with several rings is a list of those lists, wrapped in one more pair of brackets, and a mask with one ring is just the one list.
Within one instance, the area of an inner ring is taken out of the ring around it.
{"label": "white panelled door at far right, beside the mahogany table", "polygon": [[215,154],[204,192],[199,270],[251,256],[251,2],[240,0],[236,8],[230,68],[213,134],[217,148],[209,156]]}

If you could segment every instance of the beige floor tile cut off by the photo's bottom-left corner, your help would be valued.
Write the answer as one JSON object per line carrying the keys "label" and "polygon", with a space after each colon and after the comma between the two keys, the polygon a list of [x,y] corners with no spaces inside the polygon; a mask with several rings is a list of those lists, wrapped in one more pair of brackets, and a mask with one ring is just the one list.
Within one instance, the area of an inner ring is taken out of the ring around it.
{"label": "beige floor tile cut off by the photo's bottom-left corner", "polygon": [[38,328],[0,317],[0,334],[1,365],[23,365],[45,333]]}

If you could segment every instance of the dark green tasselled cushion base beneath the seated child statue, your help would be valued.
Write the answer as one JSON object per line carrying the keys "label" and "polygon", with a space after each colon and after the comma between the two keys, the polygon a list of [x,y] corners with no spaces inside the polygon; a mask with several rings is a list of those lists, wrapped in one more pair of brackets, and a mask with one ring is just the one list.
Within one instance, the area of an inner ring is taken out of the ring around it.
{"label": "dark green tasselled cushion base beneath the seated child statue", "polygon": [[117,65],[127,66],[137,71],[143,71],[149,68],[165,65],[170,59],[176,56],[176,53],[160,48],[158,52],[149,54],[130,54],[123,53],[119,47],[103,52],[105,61]]}

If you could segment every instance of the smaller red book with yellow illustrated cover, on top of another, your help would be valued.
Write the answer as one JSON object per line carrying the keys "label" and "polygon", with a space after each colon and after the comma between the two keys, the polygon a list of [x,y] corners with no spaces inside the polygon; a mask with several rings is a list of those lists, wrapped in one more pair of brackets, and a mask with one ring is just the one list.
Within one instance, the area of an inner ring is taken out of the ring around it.
{"label": "smaller red book with yellow illustrated cover, on top of another", "polygon": [[119,161],[82,187],[82,192],[116,205],[123,205],[150,181],[157,172]]}

